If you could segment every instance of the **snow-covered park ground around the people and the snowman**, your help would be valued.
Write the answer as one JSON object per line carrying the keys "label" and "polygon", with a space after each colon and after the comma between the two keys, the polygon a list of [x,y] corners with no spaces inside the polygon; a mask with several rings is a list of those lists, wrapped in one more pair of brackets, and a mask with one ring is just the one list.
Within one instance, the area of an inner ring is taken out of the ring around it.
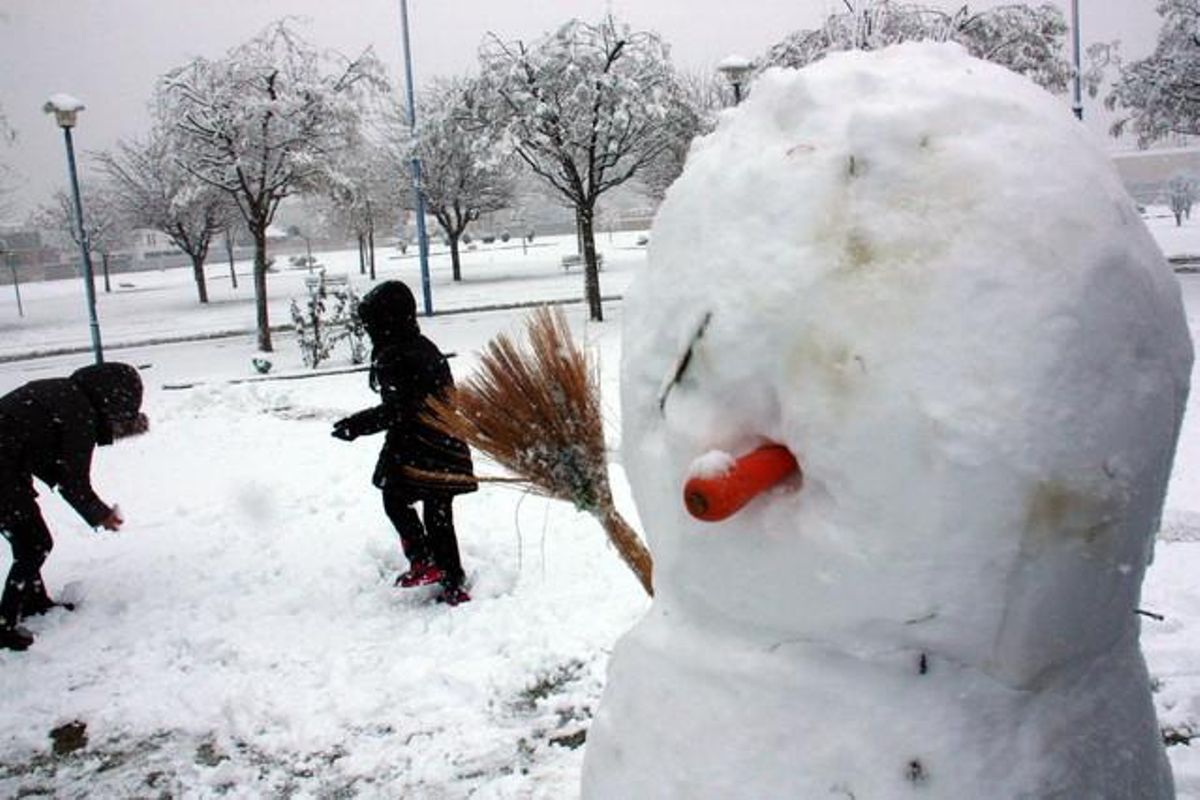
{"label": "snow-covered park ground around the people and the snowman", "polygon": [[[1169,254],[1200,252],[1200,225],[1151,225]],[[605,294],[623,291],[644,264],[635,242],[601,236]],[[461,285],[437,254],[436,306],[577,296],[582,277],[559,266],[570,243],[535,243],[547,246],[468,253]],[[354,253],[319,258],[359,281]],[[194,303],[187,270],[116,277],[130,285],[101,296],[106,342],[250,327],[248,281],[234,291],[220,275],[215,265],[209,308]],[[271,277],[274,321],[287,321],[304,276]],[[380,260],[380,277],[419,285],[415,259]],[[1200,276],[1181,283],[1195,337]],[[22,319],[0,287],[0,356],[86,345],[77,281],[28,284],[23,300]],[[620,303],[606,305],[600,325],[568,308],[600,359],[616,447]],[[520,318],[463,312],[422,326],[457,353],[462,378]],[[280,335],[276,348],[275,373],[301,369],[294,338]],[[95,482],[125,511],[121,533],[92,533],[43,493],[56,534],[46,577],[80,604],[35,620],[30,651],[0,654],[0,795],[577,796],[580,733],[608,650],[647,607],[599,525],[485,487],[456,503],[474,601],[449,609],[426,590],[396,590],[403,559],[368,482],[380,443],[329,437],[334,419],[372,401],[365,375],[227,383],[254,374],[253,355],[251,336],[108,353],[145,366],[152,429],[97,451]],[[88,360],[0,363],[0,392]],[[329,366],[344,366],[344,355]],[[185,383],[194,385],[163,387]],[[1160,721],[1184,736],[1200,726],[1198,403],[1200,392],[1142,602],[1165,618],[1144,625]],[[636,525],[616,463],[613,477]],[[53,757],[49,732],[72,721],[86,724],[86,746]],[[1170,754],[1180,796],[1200,800],[1200,758],[1187,745]]]}

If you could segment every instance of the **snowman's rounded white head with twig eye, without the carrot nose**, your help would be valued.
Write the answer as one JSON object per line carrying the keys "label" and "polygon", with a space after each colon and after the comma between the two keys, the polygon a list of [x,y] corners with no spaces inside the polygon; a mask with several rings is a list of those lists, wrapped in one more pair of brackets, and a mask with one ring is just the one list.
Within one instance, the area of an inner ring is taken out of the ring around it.
{"label": "snowman's rounded white head with twig eye, without the carrot nose", "polygon": [[[1134,625],[1190,343],[1061,100],[950,44],[769,71],[694,145],[624,317],[661,608],[1002,673]],[[803,481],[688,513],[697,464],[763,444]]]}

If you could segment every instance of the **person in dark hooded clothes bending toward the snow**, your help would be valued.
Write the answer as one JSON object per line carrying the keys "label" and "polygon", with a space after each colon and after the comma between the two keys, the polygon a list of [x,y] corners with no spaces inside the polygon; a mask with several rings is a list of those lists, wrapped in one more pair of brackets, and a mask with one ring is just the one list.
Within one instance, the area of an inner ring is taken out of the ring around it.
{"label": "person in dark hooded clothes bending toward the snow", "polygon": [[42,583],[54,540],[37,507],[34,477],[56,488],[92,528],[119,529],[116,506],[91,488],[91,453],[96,445],[144,432],[140,408],[142,378],[127,363],[92,365],[0,397],[0,534],[12,547],[0,596],[0,648],[28,648],[34,637],[17,624],[59,604]]}

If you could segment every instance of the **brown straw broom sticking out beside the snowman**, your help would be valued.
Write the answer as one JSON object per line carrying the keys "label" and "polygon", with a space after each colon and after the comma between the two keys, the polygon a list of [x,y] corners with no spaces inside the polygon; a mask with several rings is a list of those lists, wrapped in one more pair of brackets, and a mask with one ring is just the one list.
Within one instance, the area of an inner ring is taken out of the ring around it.
{"label": "brown straw broom sticking out beside the snowman", "polygon": [[594,516],[653,595],[650,553],[612,501],[596,368],[575,344],[560,309],[533,312],[526,336],[526,348],[505,333],[488,342],[479,372],[446,398],[431,399],[427,419],[515,476],[492,480]]}

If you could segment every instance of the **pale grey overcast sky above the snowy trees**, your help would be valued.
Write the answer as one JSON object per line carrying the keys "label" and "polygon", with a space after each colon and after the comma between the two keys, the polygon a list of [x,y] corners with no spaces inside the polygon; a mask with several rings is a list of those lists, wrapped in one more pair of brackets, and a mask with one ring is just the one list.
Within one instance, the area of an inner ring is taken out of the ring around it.
{"label": "pale grey overcast sky above the snowy trees", "polygon": [[[956,8],[964,0],[926,0]],[[1012,0],[976,0],[972,10]],[[1040,1],[1040,0],[1038,0]],[[1064,10],[1069,0],[1052,0]],[[1145,55],[1158,30],[1154,0],[1079,0],[1086,43],[1122,41]],[[635,29],[658,31],[677,66],[710,70],[730,54],[755,58],[786,34],[817,26],[841,0],[409,0],[418,86],[469,72],[485,34],[532,40],[578,17],[611,11]],[[283,16],[320,47],[356,54],[373,47],[402,85],[400,0],[0,0],[0,108],[17,142],[0,157],[18,170],[18,207],[66,185],[62,138],[41,107],[66,92],[86,110],[74,131],[83,151],[140,136],[155,79],[197,55],[220,56]],[[1085,101],[1085,118],[1099,116]],[[1103,132],[1097,120],[1094,127]]]}

